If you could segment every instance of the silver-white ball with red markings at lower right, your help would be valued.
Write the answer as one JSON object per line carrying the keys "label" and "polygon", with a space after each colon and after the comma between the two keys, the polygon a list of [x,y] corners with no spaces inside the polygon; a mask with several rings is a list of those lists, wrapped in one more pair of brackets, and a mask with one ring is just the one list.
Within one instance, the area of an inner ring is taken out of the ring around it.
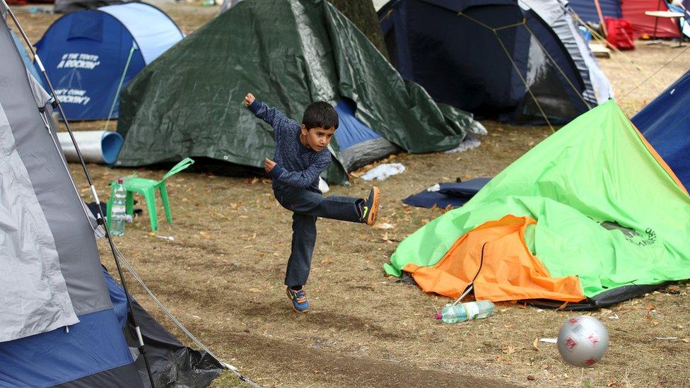
{"label": "silver-white ball with red markings at lower right", "polygon": [[563,361],[581,368],[589,367],[604,357],[609,346],[609,332],[596,318],[580,315],[563,324],[558,345]]}

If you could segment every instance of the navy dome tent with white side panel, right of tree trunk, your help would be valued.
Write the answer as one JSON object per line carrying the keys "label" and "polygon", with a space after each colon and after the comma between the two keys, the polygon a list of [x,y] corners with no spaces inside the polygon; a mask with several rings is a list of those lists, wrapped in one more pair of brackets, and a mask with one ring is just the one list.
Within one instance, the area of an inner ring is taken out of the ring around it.
{"label": "navy dome tent with white side panel, right of tree trunk", "polygon": [[612,96],[565,1],[392,0],[378,16],[392,64],[437,102],[567,122]]}

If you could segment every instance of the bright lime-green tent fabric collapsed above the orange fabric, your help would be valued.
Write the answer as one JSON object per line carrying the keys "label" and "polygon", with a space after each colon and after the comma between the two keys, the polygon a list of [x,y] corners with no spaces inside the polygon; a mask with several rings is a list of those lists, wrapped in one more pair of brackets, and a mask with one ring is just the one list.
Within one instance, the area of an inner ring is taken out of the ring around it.
{"label": "bright lime-green tent fabric collapsed above the orange fabric", "polygon": [[464,233],[511,214],[537,220],[527,246],[551,277],[578,276],[587,298],[690,278],[690,197],[658,160],[609,100],[403,240],[385,271],[433,266]]}

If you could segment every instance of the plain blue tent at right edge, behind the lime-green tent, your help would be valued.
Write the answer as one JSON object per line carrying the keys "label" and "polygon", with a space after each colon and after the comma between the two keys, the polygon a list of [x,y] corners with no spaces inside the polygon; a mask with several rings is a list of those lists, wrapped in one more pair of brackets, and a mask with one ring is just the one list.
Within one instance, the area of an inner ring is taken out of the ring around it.
{"label": "plain blue tent at right edge, behind the lime-green tent", "polygon": [[690,190],[690,71],[638,112],[632,122]]}

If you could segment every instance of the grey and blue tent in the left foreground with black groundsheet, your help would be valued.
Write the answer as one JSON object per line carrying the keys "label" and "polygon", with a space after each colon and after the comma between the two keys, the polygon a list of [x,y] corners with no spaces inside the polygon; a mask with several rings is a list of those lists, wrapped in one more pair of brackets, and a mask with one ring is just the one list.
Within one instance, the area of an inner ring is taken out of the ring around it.
{"label": "grey and blue tent in the left foreground with black groundsheet", "polygon": [[[127,299],[100,264],[49,95],[28,74],[4,17],[0,52],[0,387],[146,387]],[[133,308],[157,386],[204,386],[220,373],[208,353]]]}

